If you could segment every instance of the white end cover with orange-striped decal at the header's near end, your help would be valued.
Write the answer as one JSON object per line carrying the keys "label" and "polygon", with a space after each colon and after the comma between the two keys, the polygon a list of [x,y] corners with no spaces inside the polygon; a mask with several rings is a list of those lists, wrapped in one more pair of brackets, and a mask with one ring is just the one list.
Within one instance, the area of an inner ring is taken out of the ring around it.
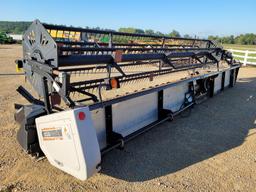
{"label": "white end cover with orange-striped decal at the header's near end", "polygon": [[[84,119],[78,118],[80,112]],[[40,147],[53,166],[81,180],[99,171],[100,149],[88,107],[39,117],[36,128]]]}

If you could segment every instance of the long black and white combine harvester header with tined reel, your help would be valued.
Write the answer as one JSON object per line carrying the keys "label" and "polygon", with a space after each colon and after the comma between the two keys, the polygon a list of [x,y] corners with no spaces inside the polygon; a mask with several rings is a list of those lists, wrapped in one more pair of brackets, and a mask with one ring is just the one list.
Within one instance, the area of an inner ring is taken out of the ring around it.
{"label": "long black and white combine harvester header with tined reel", "polygon": [[34,89],[17,88],[30,102],[15,104],[18,142],[81,180],[100,171],[106,152],[233,87],[240,68],[210,40],[39,20],[16,64]]}

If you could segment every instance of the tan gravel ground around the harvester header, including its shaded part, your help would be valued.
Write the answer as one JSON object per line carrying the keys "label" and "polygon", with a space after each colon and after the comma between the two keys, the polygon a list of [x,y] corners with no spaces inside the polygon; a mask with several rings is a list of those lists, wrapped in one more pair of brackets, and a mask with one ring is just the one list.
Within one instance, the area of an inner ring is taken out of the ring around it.
{"label": "tan gravel ground around the harvester header, including its shaded part", "polygon": [[[15,70],[21,46],[0,46],[0,73]],[[256,68],[237,85],[114,150],[103,170],[79,181],[37,162],[16,142],[13,103],[21,76],[0,77],[0,191],[255,191]]]}

